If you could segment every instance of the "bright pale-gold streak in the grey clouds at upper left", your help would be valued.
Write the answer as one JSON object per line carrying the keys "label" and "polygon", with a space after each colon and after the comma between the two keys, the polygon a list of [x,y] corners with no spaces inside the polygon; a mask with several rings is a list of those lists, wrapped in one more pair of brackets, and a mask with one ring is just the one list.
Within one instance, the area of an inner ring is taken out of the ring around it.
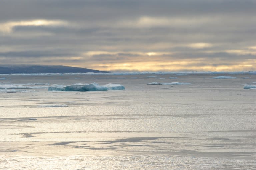
{"label": "bright pale-gold streak in the grey clouds at upper left", "polygon": [[41,25],[65,25],[67,22],[61,20],[29,20],[0,23],[0,32],[10,33],[15,26],[41,26]]}

